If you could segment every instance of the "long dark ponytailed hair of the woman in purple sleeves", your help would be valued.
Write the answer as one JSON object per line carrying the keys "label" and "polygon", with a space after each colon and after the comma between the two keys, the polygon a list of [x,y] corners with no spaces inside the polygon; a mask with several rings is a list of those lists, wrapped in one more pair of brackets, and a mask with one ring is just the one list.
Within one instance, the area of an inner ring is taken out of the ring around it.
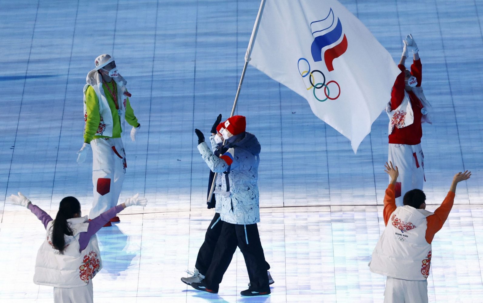
{"label": "long dark ponytailed hair of the woman in purple sleeves", "polygon": [[52,226],[52,246],[63,254],[65,249],[64,234],[72,235],[68,219],[74,218],[75,214],[81,213],[81,204],[74,197],[65,197],[60,201],[59,211]]}

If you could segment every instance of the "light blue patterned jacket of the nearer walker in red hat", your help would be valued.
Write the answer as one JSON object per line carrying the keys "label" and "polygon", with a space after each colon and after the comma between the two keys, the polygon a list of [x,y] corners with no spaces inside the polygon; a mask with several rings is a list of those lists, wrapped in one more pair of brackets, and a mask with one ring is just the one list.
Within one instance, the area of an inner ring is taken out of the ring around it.
{"label": "light blue patterned jacket of the nearer walker in red hat", "polygon": [[[210,137],[212,147],[216,147]],[[213,172],[216,179],[216,205],[221,204],[221,220],[232,224],[254,224],[260,222],[258,193],[258,164],[260,162],[260,143],[255,135],[245,133],[240,141],[228,145],[228,151],[221,157],[213,154],[206,142],[198,145],[201,157]],[[229,159],[233,162],[227,164]],[[224,160],[227,159],[227,160]],[[229,168],[229,174],[225,172]],[[228,178],[227,178],[228,176]],[[227,191],[227,179],[229,191]]]}

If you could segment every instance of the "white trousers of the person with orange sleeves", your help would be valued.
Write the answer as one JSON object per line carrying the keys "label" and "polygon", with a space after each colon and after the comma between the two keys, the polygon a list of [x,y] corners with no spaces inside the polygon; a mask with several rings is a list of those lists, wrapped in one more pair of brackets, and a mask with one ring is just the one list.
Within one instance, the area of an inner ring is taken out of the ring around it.
{"label": "white trousers of the person with orange sleeves", "polygon": [[427,303],[427,280],[410,281],[388,276],[384,303]]}

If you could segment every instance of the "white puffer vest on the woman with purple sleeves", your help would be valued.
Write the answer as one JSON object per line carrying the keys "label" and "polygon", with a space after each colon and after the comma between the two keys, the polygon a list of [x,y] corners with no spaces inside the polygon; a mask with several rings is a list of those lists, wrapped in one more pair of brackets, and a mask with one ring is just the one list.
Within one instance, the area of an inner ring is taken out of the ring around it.
{"label": "white puffer vest on the woman with purple sleeves", "polygon": [[53,222],[47,224],[47,235],[37,253],[33,282],[58,288],[76,288],[89,284],[102,268],[97,236],[94,234],[87,247],[79,252],[79,234],[87,232],[87,216],[67,220],[73,235],[65,235],[64,253],[52,246]]}

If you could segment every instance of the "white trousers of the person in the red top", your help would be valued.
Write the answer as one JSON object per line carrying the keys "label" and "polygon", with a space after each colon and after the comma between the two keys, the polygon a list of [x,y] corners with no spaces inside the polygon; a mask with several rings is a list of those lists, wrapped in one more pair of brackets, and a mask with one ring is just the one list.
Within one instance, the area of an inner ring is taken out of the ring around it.
{"label": "white trousers of the person in the red top", "polygon": [[[398,166],[399,177],[396,183],[396,206],[402,206],[404,194],[412,189],[423,190],[424,155],[421,144],[389,144],[388,162]],[[391,177],[389,177],[389,180]],[[399,195],[399,196],[398,196]]]}

